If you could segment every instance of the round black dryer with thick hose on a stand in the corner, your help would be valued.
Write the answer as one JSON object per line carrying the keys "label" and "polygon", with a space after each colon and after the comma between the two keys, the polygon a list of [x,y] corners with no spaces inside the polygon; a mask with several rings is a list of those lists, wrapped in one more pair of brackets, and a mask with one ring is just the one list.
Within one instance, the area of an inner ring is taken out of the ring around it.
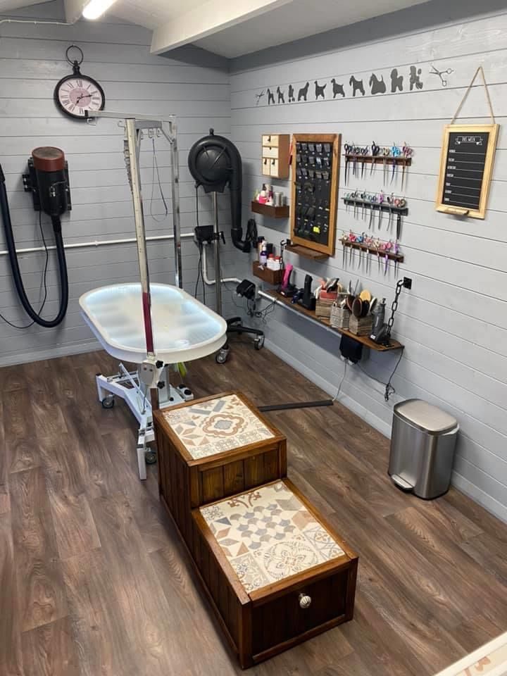
{"label": "round black dryer with thick hose on a stand in the corner", "polygon": [[188,158],[189,170],[204,192],[224,192],[229,184],[232,244],[247,253],[249,239],[243,240],[242,228],[242,159],[237,147],[223,136],[215,136],[213,129],[192,146]]}

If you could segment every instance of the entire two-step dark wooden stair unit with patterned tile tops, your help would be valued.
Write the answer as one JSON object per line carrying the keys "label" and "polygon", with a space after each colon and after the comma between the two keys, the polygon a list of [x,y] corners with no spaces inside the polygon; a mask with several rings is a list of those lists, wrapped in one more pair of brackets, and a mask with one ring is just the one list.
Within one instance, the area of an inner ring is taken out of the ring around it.
{"label": "entire two-step dark wooden stair unit with patterned tile tops", "polygon": [[351,620],[358,557],[287,480],[242,394],[156,411],[161,501],[242,668]]}

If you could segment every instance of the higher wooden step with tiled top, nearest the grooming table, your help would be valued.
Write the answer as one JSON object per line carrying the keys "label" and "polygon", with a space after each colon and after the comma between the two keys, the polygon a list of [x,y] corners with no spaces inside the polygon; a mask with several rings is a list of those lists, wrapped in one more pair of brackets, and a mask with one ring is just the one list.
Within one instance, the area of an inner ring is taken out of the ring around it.
{"label": "higher wooden step with tiled top, nearest the grooming table", "polygon": [[287,442],[243,394],[154,414],[158,486],[192,551],[192,509],[287,476]]}

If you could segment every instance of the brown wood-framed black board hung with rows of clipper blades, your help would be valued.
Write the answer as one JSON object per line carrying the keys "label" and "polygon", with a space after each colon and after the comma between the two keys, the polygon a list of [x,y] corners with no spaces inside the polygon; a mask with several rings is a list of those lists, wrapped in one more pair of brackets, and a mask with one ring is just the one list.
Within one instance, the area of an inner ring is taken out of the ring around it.
{"label": "brown wood-framed black board hung with rows of clipper blades", "polygon": [[292,137],[291,239],[334,256],[340,134]]}

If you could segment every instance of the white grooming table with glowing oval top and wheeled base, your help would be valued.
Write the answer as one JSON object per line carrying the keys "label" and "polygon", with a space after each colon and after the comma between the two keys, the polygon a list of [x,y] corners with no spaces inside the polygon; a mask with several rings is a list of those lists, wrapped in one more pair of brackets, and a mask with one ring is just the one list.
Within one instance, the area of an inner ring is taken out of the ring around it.
{"label": "white grooming table with glowing oval top and wheeled base", "polygon": [[[186,387],[170,385],[168,366],[220,349],[226,340],[227,323],[183,289],[170,284],[150,284],[150,289],[154,356],[163,363],[158,400],[164,408],[193,399]],[[146,361],[141,284],[93,289],[80,297],[80,306],[84,320],[106,352],[139,365]],[[129,372],[122,363],[117,375],[97,375],[96,384],[104,408],[113,406],[114,395],[120,396],[137,418],[139,477],[146,479],[146,444],[154,441],[149,387],[139,379],[137,370]]]}

